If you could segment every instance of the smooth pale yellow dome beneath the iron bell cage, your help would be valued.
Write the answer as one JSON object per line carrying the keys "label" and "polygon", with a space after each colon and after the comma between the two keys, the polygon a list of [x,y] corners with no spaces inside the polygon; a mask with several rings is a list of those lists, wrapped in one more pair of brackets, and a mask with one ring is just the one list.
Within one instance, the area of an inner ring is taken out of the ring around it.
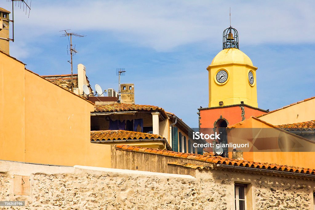
{"label": "smooth pale yellow dome beneath the iron bell cage", "polygon": [[250,60],[250,58],[237,48],[226,48],[221,50],[221,52],[218,53],[212,60],[211,65],[221,65],[230,63],[247,64],[253,66],[253,63]]}

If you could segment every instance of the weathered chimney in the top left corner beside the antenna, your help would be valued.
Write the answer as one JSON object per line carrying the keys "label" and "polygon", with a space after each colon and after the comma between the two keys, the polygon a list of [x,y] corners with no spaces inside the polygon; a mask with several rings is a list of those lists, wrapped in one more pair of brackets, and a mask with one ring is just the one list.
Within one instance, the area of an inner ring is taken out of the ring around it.
{"label": "weathered chimney in the top left corner beside the antenna", "polygon": [[9,14],[10,11],[0,7],[0,50],[9,54]]}

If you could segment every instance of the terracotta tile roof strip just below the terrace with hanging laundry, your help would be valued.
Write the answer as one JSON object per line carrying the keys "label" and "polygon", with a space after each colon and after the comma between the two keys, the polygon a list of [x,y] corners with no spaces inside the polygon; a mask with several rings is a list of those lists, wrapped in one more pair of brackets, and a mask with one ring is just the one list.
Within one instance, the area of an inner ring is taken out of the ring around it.
{"label": "terracotta tile roof strip just below the terrace with hanging laundry", "polygon": [[91,141],[165,139],[161,135],[124,130],[91,131]]}

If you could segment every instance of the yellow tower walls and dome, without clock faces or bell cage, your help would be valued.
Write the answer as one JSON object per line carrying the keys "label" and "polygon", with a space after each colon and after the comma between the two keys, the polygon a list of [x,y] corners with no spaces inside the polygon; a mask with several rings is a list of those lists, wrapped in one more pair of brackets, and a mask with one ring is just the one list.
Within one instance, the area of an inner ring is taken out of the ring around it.
{"label": "yellow tower walls and dome, without clock faces or bell cage", "polygon": [[[244,60],[245,58],[245,60]],[[209,71],[209,107],[219,106],[223,101],[224,105],[245,104],[258,107],[256,70],[247,55],[236,48],[222,50],[208,66]],[[225,70],[228,79],[224,83],[216,80],[218,71]],[[254,74],[253,86],[248,82],[248,73]]]}

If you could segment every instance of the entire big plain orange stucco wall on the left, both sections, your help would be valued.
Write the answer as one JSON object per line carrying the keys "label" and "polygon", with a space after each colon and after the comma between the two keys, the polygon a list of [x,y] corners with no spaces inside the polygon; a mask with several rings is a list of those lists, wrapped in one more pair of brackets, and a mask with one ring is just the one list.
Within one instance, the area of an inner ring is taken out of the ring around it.
{"label": "entire big plain orange stucco wall on the left, both sections", "polygon": [[92,103],[2,52],[0,79],[0,159],[111,167],[111,145],[90,143]]}

